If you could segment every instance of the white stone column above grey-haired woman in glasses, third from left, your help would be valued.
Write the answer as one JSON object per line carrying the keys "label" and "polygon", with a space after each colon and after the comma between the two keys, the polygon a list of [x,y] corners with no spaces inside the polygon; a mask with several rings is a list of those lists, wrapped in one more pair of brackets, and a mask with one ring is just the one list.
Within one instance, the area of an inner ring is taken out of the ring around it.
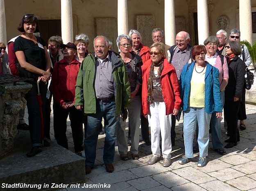
{"label": "white stone column above grey-haired woman in glasses, third from left", "polygon": [[128,34],[128,13],[127,13],[127,0],[118,0],[117,8],[117,25],[118,36],[121,34]]}

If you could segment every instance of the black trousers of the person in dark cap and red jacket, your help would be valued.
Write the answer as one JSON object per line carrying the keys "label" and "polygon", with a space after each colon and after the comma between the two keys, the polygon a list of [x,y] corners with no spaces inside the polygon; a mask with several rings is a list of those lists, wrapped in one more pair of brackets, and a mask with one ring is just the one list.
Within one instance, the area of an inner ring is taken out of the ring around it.
{"label": "black trousers of the person in dark cap and red jacket", "polygon": [[82,146],[84,140],[82,124],[84,122],[84,115],[82,111],[77,110],[75,106],[69,109],[63,109],[53,100],[54,137],[57,143],[66,149],[68,149],[68,139],[66,136],[68,115],[72,129],[75,152],[77,153],[84,150]]}

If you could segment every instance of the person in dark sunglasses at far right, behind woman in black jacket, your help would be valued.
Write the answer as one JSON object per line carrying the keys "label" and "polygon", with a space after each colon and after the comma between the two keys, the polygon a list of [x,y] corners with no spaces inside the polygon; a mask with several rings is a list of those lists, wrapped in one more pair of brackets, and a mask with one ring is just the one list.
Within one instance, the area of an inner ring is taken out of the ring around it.
{"label": "person in dark sunglasses at far right, behind woman in black jacket", "polygon": [[[236,40],[240,42],[240,31],[238,29],[232,29],[229,33],[229,40]],[[247,46],[241,45],[242,53],[239,55],[239,58],[245,62],[245,65],[249,67],[251,64],[251,56],[249,54],[249,50]],[[240,120],[240,130],[245,130],[245,119],[247,119],[246,116],[246,109],[245,109],[245,84],[242,89],[242,97],[240,101],[240,108],[238,111],[238,120]]]}

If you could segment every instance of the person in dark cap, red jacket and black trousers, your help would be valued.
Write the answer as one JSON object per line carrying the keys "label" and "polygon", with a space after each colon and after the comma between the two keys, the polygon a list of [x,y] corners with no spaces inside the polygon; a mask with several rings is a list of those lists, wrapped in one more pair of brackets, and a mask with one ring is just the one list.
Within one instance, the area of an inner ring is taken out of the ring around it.
{"label": "person in dark cap, red jacket and black trousers", "polygon": [[61,46],[64,58],[54,64],[52,74],[53,92],[53,128],[57,143],[68,149],[66,137],[67,118],[69,114],[75,153],[82,156],[83,144],[83,113],[76,110],[75,84],[80,62],[76,60],[77,47],[73,43]]}

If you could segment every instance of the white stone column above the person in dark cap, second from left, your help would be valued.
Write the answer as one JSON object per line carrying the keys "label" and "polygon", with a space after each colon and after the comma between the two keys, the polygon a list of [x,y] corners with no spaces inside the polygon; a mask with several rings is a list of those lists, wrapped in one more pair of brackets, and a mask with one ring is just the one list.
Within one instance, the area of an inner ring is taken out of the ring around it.
{"label": "white stone column above the person in dark cap, second from left", "polygon": [[64,44],[73,42],[72,0],[61,0],[61,36]]}

